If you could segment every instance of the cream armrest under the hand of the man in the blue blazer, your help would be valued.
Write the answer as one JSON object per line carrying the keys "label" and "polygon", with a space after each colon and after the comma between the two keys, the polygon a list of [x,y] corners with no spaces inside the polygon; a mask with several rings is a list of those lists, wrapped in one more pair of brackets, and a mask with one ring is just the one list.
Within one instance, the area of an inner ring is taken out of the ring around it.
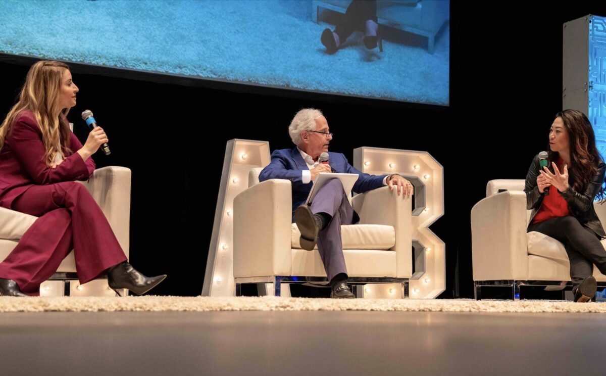
{"label": "cream armrest under the hand of the man in the blue blazer", "polygon": [[353,196],[351,204],[361,224],[386,224],[396,232],[396,277],[410,278],[412,257],[412,196],[398,196],[388,187],[381,187]]}

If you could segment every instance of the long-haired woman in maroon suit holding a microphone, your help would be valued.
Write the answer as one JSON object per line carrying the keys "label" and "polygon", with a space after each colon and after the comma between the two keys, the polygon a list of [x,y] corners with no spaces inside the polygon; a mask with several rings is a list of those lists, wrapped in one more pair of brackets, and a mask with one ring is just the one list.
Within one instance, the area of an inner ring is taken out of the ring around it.
{"label": "long-haired woman in maroon suit holding a microphone", "polygon": [[0,206],[39,217],[0,263],[0,295],[38,295],[72,249],[80,283],[107,273],[112,289],[141,295],[166,277],[145,277],[126,261],[105,215],[75,181],[88,179],[90,156],[107,143],[101,128],[84,146],[70,130],[65,115],[76,93],[67,65],[36,62],[0,126]]}

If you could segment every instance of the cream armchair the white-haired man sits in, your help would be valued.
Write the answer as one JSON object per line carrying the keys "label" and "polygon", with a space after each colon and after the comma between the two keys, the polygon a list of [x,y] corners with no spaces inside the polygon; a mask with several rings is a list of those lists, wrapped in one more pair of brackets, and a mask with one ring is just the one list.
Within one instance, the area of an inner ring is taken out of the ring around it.
{"label": "cream armchair the white-haired man sits in", "polygon": [[[241,283],[273,283],[279,296],[281,283],[327,281],[318,249],[299,245],[299,230],[291,223],[290,181],[259,183],[261,170],[250,170],[248,189],[234,200],[236,295]],[[405,297],[413,274],[411,198],[382,187],[354,196],[352,206],[360,224],[341,227],[348,281],[401,283]]]}

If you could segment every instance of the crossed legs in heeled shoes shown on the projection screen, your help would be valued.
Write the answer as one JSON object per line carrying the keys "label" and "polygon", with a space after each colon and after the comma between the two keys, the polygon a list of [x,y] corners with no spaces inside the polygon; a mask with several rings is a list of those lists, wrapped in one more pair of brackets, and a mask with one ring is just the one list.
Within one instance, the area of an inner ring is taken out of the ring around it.
{"label": "crossed legs in heeled shoes shown on the projection screen", "polygon": [[335,30],[324,29],[320,41],[326,47],[326,53],[332,55],[345,44],[345,41],[354,32],[356,27],[364,25],[365,33],[362,43],[369,50],[377,47],[383,51],[379,24],[377,24],[376,0],[352,0],[345,15],[336,24]]}

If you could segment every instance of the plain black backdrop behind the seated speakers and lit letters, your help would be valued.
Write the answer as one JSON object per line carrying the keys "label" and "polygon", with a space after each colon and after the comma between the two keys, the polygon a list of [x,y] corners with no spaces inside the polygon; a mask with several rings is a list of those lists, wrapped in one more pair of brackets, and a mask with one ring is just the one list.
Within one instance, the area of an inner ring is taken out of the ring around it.
{"label": "plain black backdrop behind the seated speakers and lit letters", "polygon": [[[199,295],[228,139],[291,147],[302,107],[321,109],[331,150],[427,150],[444,166],[445,215],[431,229],[446,243],[441,297],[472,297],[470,210],[488,180],[524,178],[562,105],[562,24],[606,15],[603,2],[451,2],[450,107],[290,92],[72,65],[80,88],[68,118],[91,109],[110,138],[98,167],[132,170],[130,260],[166,273],[154,294]],[[318,41],[319,42],[319,41]],[[388,48],[388,45],[387,47]],[[33,60],[0,59],[0,116]],[[456,273],[458,270],[458,274]]]}

